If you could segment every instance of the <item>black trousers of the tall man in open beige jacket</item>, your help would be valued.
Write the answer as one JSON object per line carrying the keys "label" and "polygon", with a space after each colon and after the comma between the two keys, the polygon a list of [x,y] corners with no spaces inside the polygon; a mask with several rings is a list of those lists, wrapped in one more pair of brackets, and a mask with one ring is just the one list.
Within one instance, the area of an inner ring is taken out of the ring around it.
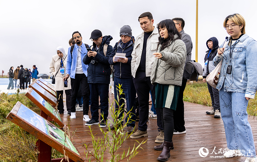
{"label": "black trousers of the tall man in open beige jacket", "polygon": [[[139,122],[138,129],[140,131],[147,130],[147,120],[149,116],[149,93],[152,92],[153,101],[155,104],[155,86],[151,84],[150,77],[146,77],[146,72],[137,71],[136,77],[133,77],[134,86],[137,91],[137,99],[139,102]],[[155,108],[157,114],[157,126],[158,130],[163,131],[163,126],[161,122],[160,108]]]}

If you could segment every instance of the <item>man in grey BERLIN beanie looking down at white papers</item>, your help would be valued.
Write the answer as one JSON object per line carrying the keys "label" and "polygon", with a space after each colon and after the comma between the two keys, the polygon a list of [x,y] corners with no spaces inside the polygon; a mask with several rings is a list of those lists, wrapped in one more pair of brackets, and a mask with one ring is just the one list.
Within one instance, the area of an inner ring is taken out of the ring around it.
{"label": "man in grey BERLIN beanie looking down at white papers", "polygon": [[[135,39],[132,36],[132,30],[129,25],[124,25],[122,28],[120,28],[120,38],[121,39],[119,42],[115,44],[108,61],[111,65],[113,65],[114,68],[114,87],[117,87],[120,84],[124,93],[120,95],[120,98],[122,99],[120,100],[119,105],[117,105],[117,103],[115,104],[115,112],[118,112],[120,106],[125,103],[123,99],[126,99],[127,112],[129,112],[129,114],[126,115],[126,122],[128,122],[127,132],[131,133],[134,130],[136,122],[136,89],[131,74],[131,53],[134,48]],[[115,60],[116,53],[125,53],[126,58],[118,58],[118,60]],[[117,94],[117,90],[115,88],[114,98],[116,100],[118,100],[117,95],[119,94]],[[121,117],[121,114],[124,113],[124,107],[125,105],[122,106],[119,117]],[[129,115],[131,118],[129,121],[127,121]],[[118,124],[120,125],[120,123]],[[113,125],[111,126],[111,130],[114,130]]]}

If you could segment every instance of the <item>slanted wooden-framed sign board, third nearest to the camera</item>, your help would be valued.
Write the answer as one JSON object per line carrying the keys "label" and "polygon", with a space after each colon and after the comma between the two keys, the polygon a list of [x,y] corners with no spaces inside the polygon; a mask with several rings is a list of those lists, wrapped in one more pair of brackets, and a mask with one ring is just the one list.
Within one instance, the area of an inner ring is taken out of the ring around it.
{"label": "slanted wooden-framed sign board, third nearest to the camera", "polygon": [[29,85],[29,87],[33,88],[33,90],[35,90],[36,93],[38,93],[46,101],[50,102],[54,106],[57,105],[57,99],[53,95],[51,95],[49,92],[47,92],[43,87],[41,87],[39,84],[37,84],[36,82],[31,83]]}

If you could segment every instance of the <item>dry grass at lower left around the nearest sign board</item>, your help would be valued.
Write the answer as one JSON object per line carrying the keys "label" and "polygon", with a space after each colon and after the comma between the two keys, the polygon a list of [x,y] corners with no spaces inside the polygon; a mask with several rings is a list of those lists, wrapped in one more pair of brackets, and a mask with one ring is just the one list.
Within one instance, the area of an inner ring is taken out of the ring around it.
{"label": "dry grass at lower left around the nearest sign board", "polygon": [[[37,161],[36,137],[6,119],[18,101],[36,113],[40,113],[40,109],[24,94],[0,94],[0,162],[29,161],[30,159]],[[52,152],[53,158],[63,157],[54,149]]]}

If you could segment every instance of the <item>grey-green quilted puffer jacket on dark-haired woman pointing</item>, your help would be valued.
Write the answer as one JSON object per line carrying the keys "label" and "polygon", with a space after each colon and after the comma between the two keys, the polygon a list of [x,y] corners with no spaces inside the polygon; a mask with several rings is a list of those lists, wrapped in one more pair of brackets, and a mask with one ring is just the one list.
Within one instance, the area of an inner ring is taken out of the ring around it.
{"label": "grey-green quilted puffer jacket on dark-haired woman pointing", "polygon": [[[174,39],[178,36],[175,35]],[[151,72],[151,82],[181,86],[186,62],[186,45],[182,40],[173,40],[163,51],[162,58],[155,58]]]}

